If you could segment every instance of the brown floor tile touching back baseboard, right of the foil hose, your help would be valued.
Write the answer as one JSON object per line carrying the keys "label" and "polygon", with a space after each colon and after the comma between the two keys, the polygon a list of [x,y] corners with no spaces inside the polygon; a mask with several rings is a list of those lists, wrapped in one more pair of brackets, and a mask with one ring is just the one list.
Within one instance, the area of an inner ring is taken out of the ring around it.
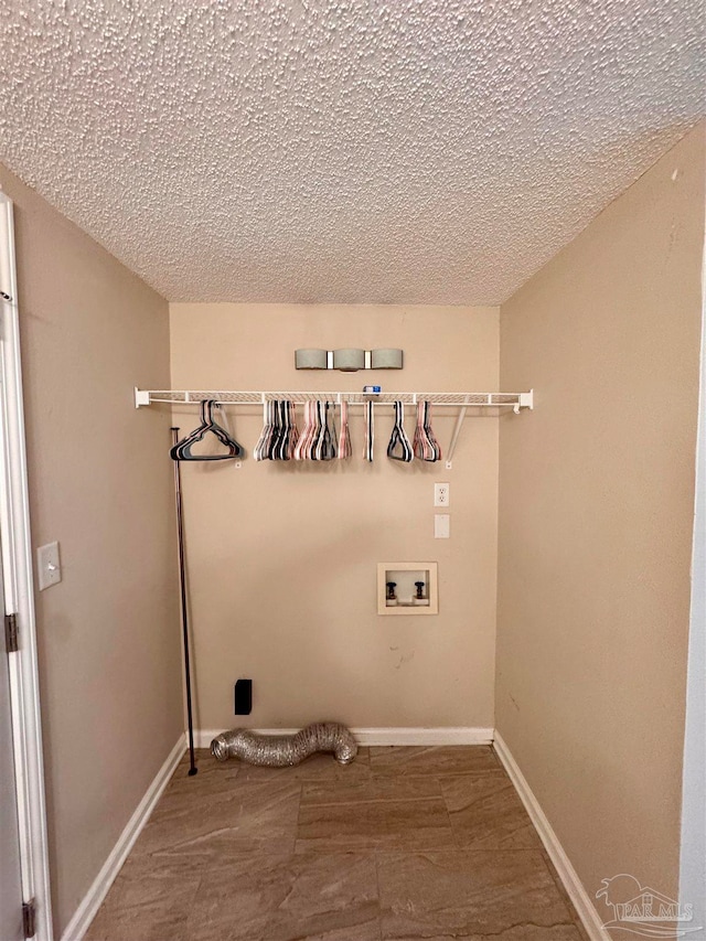
{"label": "brown floor tile touching back baseboard, right of the foil hose", "polygon": [[488,745],[371,748],[373,774],[470,774],[501,766]]}

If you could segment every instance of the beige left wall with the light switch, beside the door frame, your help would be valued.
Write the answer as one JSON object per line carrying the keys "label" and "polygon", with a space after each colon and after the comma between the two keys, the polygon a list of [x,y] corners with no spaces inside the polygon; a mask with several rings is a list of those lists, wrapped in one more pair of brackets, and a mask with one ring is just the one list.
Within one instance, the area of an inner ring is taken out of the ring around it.
{"label": "beige left wall with the light switch, beside the door frame", "polygon": [[56,937],[183,728],[167,303],[0,168],[15,203],[35,546],[63,581],[38,592]]}

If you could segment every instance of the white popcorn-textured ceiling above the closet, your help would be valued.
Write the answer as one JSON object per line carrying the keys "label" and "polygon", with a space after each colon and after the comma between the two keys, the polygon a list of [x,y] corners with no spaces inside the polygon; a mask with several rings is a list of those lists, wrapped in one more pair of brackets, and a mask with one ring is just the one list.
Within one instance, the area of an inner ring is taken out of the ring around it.
{"label": "white popcorn-textured ceiling above the closet", "polygon": [[697,119],[702,0],[6,0],[0,159],[170,300],[498,303]]}

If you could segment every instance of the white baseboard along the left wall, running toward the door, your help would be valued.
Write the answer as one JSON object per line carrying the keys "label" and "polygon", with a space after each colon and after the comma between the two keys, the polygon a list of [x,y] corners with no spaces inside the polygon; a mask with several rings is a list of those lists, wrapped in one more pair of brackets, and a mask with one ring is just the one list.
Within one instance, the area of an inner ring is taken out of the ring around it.
{"label": "white baseboard along the left wall, running toward the door", "polygon": [[74,912],[72,920],[66,926],[66,930],[62,934],[61,941],[81,941],[88,930],[90,922],[94,920],[96,912],[100,908],[100,903],[108,895],[108,889],[120,872],[120,867],[125,863],[128,853],[135,845],[142,827],[154,810],[154,804],[160,799],[169,779],[174,773],[174,769],[179,764],[185,747],[185,737],[181,735],[176,745],[174,745],[169,753],[169,757],[157,772],[154,780],[147,789],[145,796],[137,805],[137,809],[128,821],[127,826],[118,837],[118,842],[113,847],[113,851],[104,863],[103,868],[86,892],[84,900],[81,902]]}

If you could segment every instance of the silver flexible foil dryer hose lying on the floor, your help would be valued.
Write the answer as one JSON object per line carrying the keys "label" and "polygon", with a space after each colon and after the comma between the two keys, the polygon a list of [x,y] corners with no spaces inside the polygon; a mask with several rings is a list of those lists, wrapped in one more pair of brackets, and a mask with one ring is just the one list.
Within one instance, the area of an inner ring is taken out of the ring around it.
{"label": "silver flexible foil dryer hose lying on the floor", "polygon": [[357,745],[349,729],[338,723],[313,723],[295,735],[259,735],[234,728],[211,742],[211,753],[218,761],[239,758],[248,764],[270,768],[299,764],[317,751],[332,751],[339,764],[350,764],[357,755]]}

